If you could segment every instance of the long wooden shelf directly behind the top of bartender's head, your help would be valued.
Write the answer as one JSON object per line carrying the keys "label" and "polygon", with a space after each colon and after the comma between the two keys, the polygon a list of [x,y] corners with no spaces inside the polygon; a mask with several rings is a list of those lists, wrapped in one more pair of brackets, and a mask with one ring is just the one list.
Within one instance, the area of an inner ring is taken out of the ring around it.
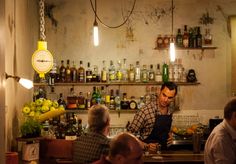
{"label": "long wooden shelf directly behind the top of bartender's head", "polygon": [[[118,86],[122,86],[122,85],[136,85],[136,86],[139,86],[139,85],[143,85],[143,86],[146,86],[146,85],[161,85],[162,82],[148,82],[148,83],[142,83],[142,82],[139,82],[139,83],[130,83],[130,82],[108,82],[108,83],[101,83],[101,82],[94,82],[94,83],[55,83],[55,85],[52,85],[52,86],[115,86],[115,85],[118,85]],[[186,85],[186,86],[189,86],[189,85],[199,85],[200,82],[194,82],[194,83],[189,83],[189,82],[176,82],[177,85]],[[47,83],[34,83],[34,86],[49,86]]]}

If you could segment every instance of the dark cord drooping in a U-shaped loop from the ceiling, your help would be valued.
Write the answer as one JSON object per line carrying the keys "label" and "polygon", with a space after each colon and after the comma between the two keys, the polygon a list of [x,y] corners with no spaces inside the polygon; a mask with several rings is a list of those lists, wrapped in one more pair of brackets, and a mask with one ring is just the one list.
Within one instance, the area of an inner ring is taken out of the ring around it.
{"label": "dark cord drooping in a U-shaped loop from the ceiling", "polygon": [[[96,9],[96,8],[97,8],[97,4],[96,4],[96,0],[95,0],[95,7],[93,6],[92,0],[90,0],[90,4],[91,4],[91,7],[92,7],[93,12],[94,12],[94,14],[95,14],[95,18],[97,18],[98,21],[99,21],[101,24],[103,24],[105,27],[108,27],[108,28],[119,28],[119,27],[123,26],[123,25],[128,21],[128,19],[130,18],[130,16],[132,15],[132,13],[133,13],[133,11],[134,11],[135,4],[136,4],[136,0],[134,0],[132,9],[131,9],[131,11],[129,12],[129,15],[127,16],[127,18],[124,20],[123,23],[121,23],[120,25],[117,25],[117,26],[110,26],[110,25],[107,25],[107,24],[105,24],[105,23],[99,18],[99,16],[97,15],[97,9]],[[96,19],[95,19],[95,20],[96,20]]]}

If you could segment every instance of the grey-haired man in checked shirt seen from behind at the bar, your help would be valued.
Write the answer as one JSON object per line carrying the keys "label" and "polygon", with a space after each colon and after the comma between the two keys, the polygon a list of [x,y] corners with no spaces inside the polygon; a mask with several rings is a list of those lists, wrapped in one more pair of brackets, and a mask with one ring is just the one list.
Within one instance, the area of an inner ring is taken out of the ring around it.
{"label": "grey-haired man in checked shirt seen from behind at the bar", "polygon": [[110,116],[106,106],[95,105],[88,111],[88,132],[74,143],[73,163],[92,163],[107,155],[110,139],[107,138]]}

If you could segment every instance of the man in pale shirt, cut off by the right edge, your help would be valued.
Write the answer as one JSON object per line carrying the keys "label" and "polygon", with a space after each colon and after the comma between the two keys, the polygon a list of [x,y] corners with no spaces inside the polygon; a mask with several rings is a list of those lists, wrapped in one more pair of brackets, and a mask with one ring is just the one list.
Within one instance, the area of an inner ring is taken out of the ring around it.
{"label": "man in pale shirt, cut off by the right edge", "polygon": [[224,108],[224,120],[208,137],[204,149],[205,164],[236,163],[236,99]]}

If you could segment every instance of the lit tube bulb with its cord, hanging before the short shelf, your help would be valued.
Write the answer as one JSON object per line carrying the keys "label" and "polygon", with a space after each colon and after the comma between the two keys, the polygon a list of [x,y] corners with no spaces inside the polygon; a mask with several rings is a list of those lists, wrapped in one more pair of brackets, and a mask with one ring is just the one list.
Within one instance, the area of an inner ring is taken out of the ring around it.
{"label": "lit tube bulb with its cord, hanging before the short shelf", "polygon": [[174,43],[174,36],[173,36],[173,26],[174,26],[174,5],[173,0],[171,0],[171,40],[170,40],[170,61],[175,61],[175,43]]}

